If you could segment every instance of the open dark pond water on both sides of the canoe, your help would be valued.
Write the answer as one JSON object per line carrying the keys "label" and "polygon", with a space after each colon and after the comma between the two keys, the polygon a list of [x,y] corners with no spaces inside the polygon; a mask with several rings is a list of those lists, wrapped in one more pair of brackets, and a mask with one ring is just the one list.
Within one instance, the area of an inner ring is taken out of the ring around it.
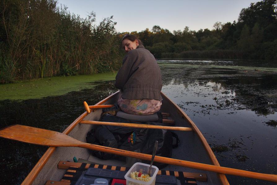
{"label": "open dark pond water on both sides of the canoe", "polygon": [[[220,165],[277,174],[277,129],[269,124],[270,120],[277,121],[276,62],[158,62],[162,91],[197,125]],[[23,124],[62,132],[84,112],[83,101],[89,105],[99,102],[117,91],[113,84],[93,82],[94,89],[62,96],[20,102],[2,100],[0,128]],[[47,149],[2,138],[0,147],[5,148],[0,151],[3,184],[20,184]],[[230,184],[269,184],[230,175],[227,178]]]}

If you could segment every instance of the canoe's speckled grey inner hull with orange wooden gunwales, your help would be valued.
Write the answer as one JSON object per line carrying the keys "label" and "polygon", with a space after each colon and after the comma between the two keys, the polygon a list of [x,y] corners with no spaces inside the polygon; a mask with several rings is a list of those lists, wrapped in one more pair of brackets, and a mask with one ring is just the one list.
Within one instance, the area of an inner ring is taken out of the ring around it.
{"label": "canoe's speckled grey inner hull with orange wooden gunwales", "polygon": [[[162,95],[162,106],[160,111],[170,114],[170,119],[175,121],[176,127],[191,127],[192,132],[175,131],[178,134],[181,143],[179,147],[173,149],[172,158],[199,162],[210,165],[219,166],[213,151],[209,147],[206,139],[196,127],[193,121],[165,94]],[[111,105],[117,102],[119,91],[103,99],[95,105]],[[86,133],[93,129],[92,124],[81,124],[84,120],[98,121],[102,113],[102,108],[94,109],[89,114],[84,112],[72,124],[64,130],[64,134],[75,138],[81,142],[86,142]],[[79,147],[49,147],[41,159],[37,162],[29,175],[24,179],[22,184],[45,184],[48,180],[60,181],[64,176],[65,171],[59,169],[57,164],[60,161],[72,161],[76,156],[80,159],[91,159],[90,152],[85,148]],[[94,160],[95,157],[93,158]],[[118,165],[116,160],[100,160],[96,161],[103,165]],[[121,162],[122,163],[122,162]],[[207,176],[206,182],[197,182],[198,184],[229,184],[224,174],[209,172],[204,170],[185,168],[181,166],[168,165],[162,170],[169,171],[183,171],[191,173],[205,174]]]}

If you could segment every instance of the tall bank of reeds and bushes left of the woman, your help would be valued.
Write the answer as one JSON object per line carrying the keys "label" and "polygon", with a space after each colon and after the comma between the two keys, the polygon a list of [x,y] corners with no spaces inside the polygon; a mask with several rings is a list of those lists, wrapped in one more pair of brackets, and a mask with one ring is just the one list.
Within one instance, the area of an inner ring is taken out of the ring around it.
{"label": "tall bank of reeds and bushes left of the woman", "polygon": [[55,0],[3,0],[0,83],[118,70],[122,52],[112,16],[95,24]]}

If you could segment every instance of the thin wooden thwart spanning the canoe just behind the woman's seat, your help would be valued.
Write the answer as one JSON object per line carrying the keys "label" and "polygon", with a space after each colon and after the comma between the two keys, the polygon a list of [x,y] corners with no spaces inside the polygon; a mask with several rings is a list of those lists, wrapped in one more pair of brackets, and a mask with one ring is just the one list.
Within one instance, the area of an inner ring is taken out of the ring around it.
{"label": "thin wooden thwart spanning the canoe just behind the woman's seat", "polygon": [[98,124],[98,125],[143,128],[143,129],[167,129],[167,130],[192,131],[192,129],[189,127],[169,127],[169,126],[150,125],[150,124],[114,123],[114,122],[89,121],[89,120],[82,120],[80,123],[81,124]]}

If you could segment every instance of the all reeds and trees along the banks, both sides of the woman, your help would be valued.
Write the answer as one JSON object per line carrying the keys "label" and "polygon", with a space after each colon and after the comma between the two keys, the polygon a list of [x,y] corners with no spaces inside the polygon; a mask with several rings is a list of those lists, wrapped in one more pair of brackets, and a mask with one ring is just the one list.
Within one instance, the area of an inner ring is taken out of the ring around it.
{"label": "all reeds and trees along the banks, both sides of the woman", "polygon": [[[0,83],[53,76],[117,71],[124,34],[113,16],[95,24],[67,11],[56,0],[3,0],[0,4]],[[213,30],[168,29],[154,25],[131,32],[156,58],[277,60],[277,0],[243,8],[233,23]]]}

